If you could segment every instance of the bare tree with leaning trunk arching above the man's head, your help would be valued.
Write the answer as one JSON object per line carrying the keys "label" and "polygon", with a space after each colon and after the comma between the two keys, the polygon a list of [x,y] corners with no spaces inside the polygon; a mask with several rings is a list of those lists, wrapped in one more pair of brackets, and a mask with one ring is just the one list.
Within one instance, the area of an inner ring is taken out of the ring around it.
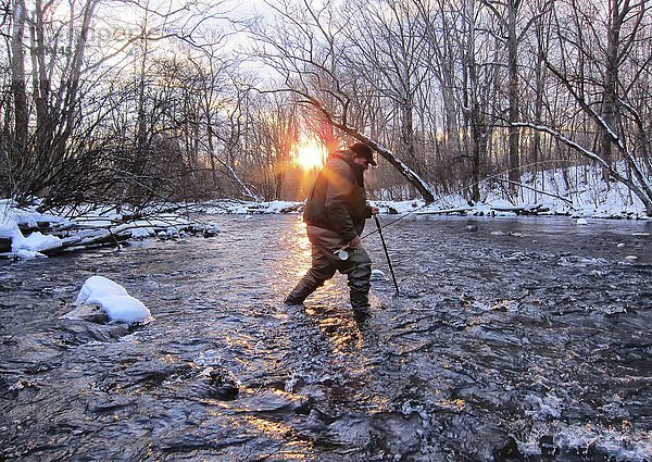
{"label": "bare tree with leaning trunk arching above the man's head", "polygon": [[311,107],[323,118],[351,138],[368,143],[412,184],[427,202],[434,201],[429,186],[389,148],[365,135],[365,127],[352,123],[352,90],[360,76],[347,70],[349,52],[341,32],[347,24],[337,9],[326,2],[304,0],[301,5],[289,2],[269,4],[280,23],[267,30],[259,28],[258,55],[284,80],[276,89],[299,95],[300,103]]}

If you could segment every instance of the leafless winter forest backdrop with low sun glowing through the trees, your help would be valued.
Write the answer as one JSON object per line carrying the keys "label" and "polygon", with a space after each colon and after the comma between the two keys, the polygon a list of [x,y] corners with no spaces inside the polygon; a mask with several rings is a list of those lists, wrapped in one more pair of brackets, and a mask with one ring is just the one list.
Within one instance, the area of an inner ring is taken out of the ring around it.
{"label": "leafless winter forest backdrop with low sun glowing through the trees", "polygon": [[244,3],[3,1],[0,197],[303,200],[360,140],[373,199],[580,167],[652,214],[651,2]]}

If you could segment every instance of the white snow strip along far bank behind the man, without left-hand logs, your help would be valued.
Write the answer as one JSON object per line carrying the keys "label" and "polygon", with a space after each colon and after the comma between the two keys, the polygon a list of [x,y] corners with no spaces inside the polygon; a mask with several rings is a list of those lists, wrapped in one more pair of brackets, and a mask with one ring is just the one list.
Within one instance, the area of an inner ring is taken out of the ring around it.
{"label": "white snow strip along far bank behind the man, without left-hand logs", "polygon": [[[421,199],[396,201],[371,201],[380,213],[403,214],[466,214],[466,215],[521,215],[549,214],[569,215],[574,218],[649,218],[645,208],[638,197],[622,183],[605,184],[599,167],[581,165],[565,170],[525,174],[517,187],[514,199],[509,195],[509,183],[499,175],[482,180],[479,185],[481,202],[468,203],[462,195],[468,188],[451,193],[436,195],[435,202],[426,205]],[[220,200],[197,204],[212,214],[239,213],[301,213],[302,202],[247,202]]]}

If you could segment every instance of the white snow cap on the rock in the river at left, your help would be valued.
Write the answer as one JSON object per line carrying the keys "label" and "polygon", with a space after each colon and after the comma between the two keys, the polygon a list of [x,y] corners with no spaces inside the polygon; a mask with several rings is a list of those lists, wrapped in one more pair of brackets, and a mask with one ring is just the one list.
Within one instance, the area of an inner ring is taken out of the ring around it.
{"label": "white snow cap on the rock in the river at left", "polygon": [[127,324],[146,323],[152,319],[149,309],[140,300],[129,296],[120,284],[103,276],[91,276],[86,279],[75,303],[98,304],[104,310],[109,320]]}

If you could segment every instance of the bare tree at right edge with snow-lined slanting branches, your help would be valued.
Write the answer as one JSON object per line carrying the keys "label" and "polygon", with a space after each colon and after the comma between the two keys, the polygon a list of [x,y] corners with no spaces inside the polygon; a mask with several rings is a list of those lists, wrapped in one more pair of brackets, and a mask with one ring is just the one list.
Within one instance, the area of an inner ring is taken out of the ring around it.
{"label": "bare tree at right edge with snow-lined slanting branches", "polygon": [[610,179],[625,184],[641,200],[648,214],[650,141],[643,134],[652,108],[640,89],[650,85],[650,8],[645,0],[610,0],[606,10],[601,3],[568,0],[555,2],[550,13],[559,35],[557,53],[544,57],[547,68],[575,103],[575,117],[581,117],[585,130],[598,134],[597,149],[579,134],[568,133],[566,121],[516,124],[546,133],[600,165]]}

